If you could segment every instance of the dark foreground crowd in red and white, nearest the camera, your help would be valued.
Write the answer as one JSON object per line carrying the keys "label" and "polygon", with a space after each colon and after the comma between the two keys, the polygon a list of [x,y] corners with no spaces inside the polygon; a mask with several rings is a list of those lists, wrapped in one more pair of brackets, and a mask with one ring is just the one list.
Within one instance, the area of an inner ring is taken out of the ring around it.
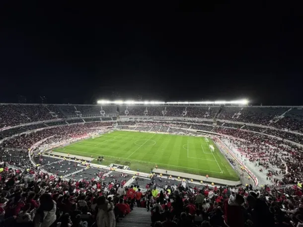
{"label": "dark foreground crowd in red and white, nearest the camera", "polygon": [[[115,227],[134,209],[152,227],[301,227],[302,189],[209,187],[178,183],[145,188],[117,180],[64,180],[1,163],[0,223],[5,227]],[[134,181],[135,182],[135,181]],[[135,208],[136,207],[136,208]]]}

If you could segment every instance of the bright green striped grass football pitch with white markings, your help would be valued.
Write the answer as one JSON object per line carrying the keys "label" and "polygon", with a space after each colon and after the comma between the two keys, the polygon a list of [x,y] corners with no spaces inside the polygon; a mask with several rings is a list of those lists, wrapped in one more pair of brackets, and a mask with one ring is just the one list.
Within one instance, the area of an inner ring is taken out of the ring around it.
{"label": "bright green striped grass football pitch with white markings", "polygon": [[[209,145],[215,147],[214,152]],[[150,172],[157,164],[158,168],[166,170],[239,179],[214,142],[204,137],[114,131],[54,151],[94,158],[104,156],[100,164],[128,165],[131,170],[141,172]],[[98,163],[97,160],[92,162]]]}

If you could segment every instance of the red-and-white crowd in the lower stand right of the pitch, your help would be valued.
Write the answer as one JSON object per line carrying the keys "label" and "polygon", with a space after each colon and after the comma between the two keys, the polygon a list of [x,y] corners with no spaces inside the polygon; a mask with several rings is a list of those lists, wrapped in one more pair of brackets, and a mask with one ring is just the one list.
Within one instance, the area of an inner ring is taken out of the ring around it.
{"label": "red-and-white crowd in the lower stand right of the pitch", "polygon": [[[266,135],[243,130],[216,128],[217,133],[234,137],[237,147],[248,153],[247,159],[258,161],[265,169],[268,163],[284,170],[277,185],[296,184],[303,181],[303,148]],[[251,154],[249,154],[251,153]],[[287,169],[286,169],[287,166]],[[281,174],[279,173],[279,174]]]}

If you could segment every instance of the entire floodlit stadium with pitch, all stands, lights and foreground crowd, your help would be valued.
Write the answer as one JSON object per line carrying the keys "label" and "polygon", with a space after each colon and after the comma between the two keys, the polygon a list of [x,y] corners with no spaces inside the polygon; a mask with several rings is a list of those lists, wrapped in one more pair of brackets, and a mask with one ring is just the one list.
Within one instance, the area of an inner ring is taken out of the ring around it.
{"label": "entire floodlit stadium with pitch, all stands, lights and foreground crowd", "polygon": [[0,152],[5,226],[303,220],[303,106],[2,103]]}

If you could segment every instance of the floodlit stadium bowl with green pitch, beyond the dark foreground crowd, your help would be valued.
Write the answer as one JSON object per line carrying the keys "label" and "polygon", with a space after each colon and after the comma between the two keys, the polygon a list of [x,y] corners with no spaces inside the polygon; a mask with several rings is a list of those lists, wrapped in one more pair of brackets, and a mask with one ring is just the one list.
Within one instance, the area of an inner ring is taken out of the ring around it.
{"label": "floodlit stadium bowl with green pitch, beyond the dark foreground crowd", "polygon": [[81,182],[90,190],[96,181],[106,191],[136,185],[143,192],[286,190],[302,182],[302,106],[2,103],[0,119],[1,174]]}

